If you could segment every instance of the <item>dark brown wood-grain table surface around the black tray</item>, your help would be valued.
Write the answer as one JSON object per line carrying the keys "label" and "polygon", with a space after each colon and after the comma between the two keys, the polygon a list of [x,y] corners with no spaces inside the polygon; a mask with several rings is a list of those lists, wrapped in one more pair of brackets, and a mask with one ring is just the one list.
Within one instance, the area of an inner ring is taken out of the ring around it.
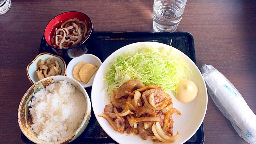
{"label": "dark brown wood-grain table surface around the black tray", "polygon": [[[67,4],[70,3],[70,4]],[[255,1],[188,0],[177,31],[194,36],[197,66],[213,65],[256,113]],[[89,15],[95,31],[153,31],[153,0],[15,1],[0,15],[0,143],[22,143],[17,111],[31,86],[26,66],[38,54],[47,23],[66,11]],[[205,143],[246,143],[213,100],[203,121]]]}

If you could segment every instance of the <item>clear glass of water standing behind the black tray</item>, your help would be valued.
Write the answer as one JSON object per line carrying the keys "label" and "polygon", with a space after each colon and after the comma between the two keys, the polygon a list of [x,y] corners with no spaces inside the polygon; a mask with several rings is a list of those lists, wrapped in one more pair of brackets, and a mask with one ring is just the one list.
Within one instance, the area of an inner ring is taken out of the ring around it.
{"label": "clear glass of water standing behind the black tray", "polygon": [[154,0],[154,31],[175,31],[185,9],[187,0]]}

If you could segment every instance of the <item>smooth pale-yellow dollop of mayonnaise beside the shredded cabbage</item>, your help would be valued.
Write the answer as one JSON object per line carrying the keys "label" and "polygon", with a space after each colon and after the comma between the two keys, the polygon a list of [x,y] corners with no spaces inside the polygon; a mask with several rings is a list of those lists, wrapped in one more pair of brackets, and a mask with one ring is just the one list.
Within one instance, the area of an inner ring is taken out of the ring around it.
{"label": "smooth pale-yellow dollop of mayonnaise beside the shredded cabbage", "polygon": [[192,102],[195,97],[197,97],[197,92],[197,85],[193,81],[184,79],[176,88],[176,98],[180,102],[189,103]]}

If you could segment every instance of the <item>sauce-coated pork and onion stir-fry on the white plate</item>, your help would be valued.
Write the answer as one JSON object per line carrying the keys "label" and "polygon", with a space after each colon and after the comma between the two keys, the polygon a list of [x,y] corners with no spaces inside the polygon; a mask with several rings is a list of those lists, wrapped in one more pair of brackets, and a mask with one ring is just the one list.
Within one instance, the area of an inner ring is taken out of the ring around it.
{"label": "sauce-coated pork and onion stir-fry on the white plate", "polygon": [[145,86],[139,80],[130,80],[111,93],[111,104],[106,105],[105,118],[115,131],[150,137],[154,142],[174,142],[173,113],[181,113],[173,108],[172,99],[160,86]]}

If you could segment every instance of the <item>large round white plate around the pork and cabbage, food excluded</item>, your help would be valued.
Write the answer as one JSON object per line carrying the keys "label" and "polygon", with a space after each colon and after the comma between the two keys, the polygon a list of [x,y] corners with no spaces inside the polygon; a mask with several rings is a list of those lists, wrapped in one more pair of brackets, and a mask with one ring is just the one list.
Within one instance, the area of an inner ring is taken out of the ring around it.
{"label": "large round white plate around the pork and cabbage, food excluded", "polygon": [[[169,45],[165,45],[163,43],[158,42],[138,42],[132,43],[130,45],[126,45],[114,53],[112,53],[101,65],[99,68],[93,82],[92,90],[91,90],[91,102],[93,106],[94,114],[101,125],[102,129],[116,142],[120,144],[131,144],[131,143],[152,143],[152,139],[150,137],[147,140],[142,140],[140,135],[130,134],[127,136],[126,132],[124,134],[120,134],[110,126],[110,124],[106,121],[106,119],[102,117],[98,117],[99,114],[103,113],[104,107],[106,104],[109,104],[110,98],[106,98],[106,102],[104,102],[104,96],[107,93],[106,90],[103,90],[107,87],[107,84],[103,81],[105,77],[105,73],[109,63],[112,62],[118,54],[123,54],[124,52],[132,51],[132,47],[135,51],[138,50],[137,47],[147,47],[148,45],[153,46],[155,48],[171,48]],[[191,61],[189,57],[187,57],[184,53],[177,49],[172,49],[172,53],[177,58],[181,58],[184,62],[186,62],[189,69],[192,71],[190,73],[190,79],[195,82],[198,86],[198,94],[194,101],[190,103],[181,103],[176,97],[172,94],[172,92],[168,92],[173,99],[173,107],[178,109],[182,115],[173,114],[173,132],[176,134],[176,131],[179,132],[179,137],[174,143],[184,143],[189,138],[191,138],[198,128],[201,126],[203,119],[205,117],[206,109],[207,109],[207,90],[205,81],[203,80],[202,74],[197,68],[197,66]]]}

